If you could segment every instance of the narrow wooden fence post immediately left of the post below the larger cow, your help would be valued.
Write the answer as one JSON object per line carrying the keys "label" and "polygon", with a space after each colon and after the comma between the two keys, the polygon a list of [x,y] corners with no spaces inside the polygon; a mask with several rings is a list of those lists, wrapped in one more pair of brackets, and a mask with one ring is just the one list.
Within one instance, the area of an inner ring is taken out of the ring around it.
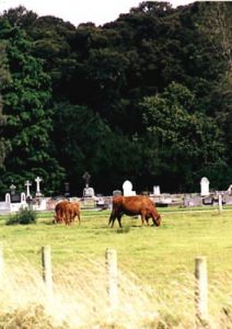
{"label": "narrow wooden fence post immediately left of the post below the larger cow", "polygon": [[43,279],[45,282],[45,288],[47,297],[53,297],[53,271],[51,271],[51,252],[50,246],[42,247],[42,266]]}

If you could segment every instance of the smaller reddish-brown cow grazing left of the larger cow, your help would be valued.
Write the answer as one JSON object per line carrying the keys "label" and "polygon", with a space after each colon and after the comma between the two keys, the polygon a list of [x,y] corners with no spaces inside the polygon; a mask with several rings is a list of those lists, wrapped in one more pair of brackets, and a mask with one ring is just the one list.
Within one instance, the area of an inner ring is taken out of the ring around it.
{"label": "smaller reddish-brown cow grazing left of the larger cow", "polygon": [[80,224],[80,206],[78,202],[61,201],[55,207],[56,223],[66,223],[66,225],[69,225],[71,222],[74,222],[76,216],[78,216]]}

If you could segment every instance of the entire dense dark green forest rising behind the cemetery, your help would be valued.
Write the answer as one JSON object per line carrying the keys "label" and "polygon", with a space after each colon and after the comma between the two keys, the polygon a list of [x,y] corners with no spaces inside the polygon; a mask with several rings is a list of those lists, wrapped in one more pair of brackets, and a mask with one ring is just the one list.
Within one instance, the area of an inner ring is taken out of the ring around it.
{"label": "entire dense dark green forest rising behind the cemetery", "polygon": [[103,26],[0,15],[0,194],[232,183],[232,2],[141,2]]}

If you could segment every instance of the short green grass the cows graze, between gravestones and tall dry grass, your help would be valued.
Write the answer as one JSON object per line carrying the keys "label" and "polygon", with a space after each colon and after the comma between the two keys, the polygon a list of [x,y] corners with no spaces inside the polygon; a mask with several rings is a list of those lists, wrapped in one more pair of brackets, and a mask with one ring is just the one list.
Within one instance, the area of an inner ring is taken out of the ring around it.
{"label": "short green grass the cows graze, between gravestones and tall dry grass", "polygon": [[42,246],[50,245],[54,264],[104,257],[106,248],[116,248],[119,266],[132,271],[152,284],[165,284],[194,271],[194,259],[207,256],[209,275],[220,276],[232,270],[232,212],[172,209],[162,213],[162,225],[141,227],[140,219],[125,216],[125,229],[117,223],[108,228],[109,212],[82,212],[82,223],[66,227],[53,224],[53,213],[43,213],[38,223],[5,226],[0,217],[0,240],[5,260],[24,257],[39,263]]}

